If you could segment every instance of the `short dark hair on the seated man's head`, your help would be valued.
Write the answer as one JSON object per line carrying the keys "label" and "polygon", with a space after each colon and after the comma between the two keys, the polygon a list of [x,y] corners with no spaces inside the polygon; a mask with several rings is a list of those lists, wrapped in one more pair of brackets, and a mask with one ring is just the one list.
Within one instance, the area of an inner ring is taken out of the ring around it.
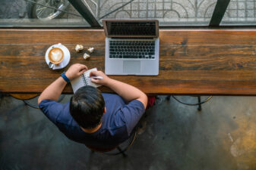
{"label": "short dark hair on the seated man's head", "polygon": [[90,85],[79,88],[70,99],[71,116],[82,128],[96,128],[100,125],[104,108],[101,91]]}

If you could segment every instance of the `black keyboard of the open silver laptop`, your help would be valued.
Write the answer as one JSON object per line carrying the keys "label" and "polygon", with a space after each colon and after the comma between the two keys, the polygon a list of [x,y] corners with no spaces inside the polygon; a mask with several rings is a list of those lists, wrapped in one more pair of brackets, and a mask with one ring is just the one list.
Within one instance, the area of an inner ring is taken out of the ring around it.
{"label": "black keyboard of the open silver laptop", "polygon": [[155,59],[155,42],[111,40],[109,58]]}

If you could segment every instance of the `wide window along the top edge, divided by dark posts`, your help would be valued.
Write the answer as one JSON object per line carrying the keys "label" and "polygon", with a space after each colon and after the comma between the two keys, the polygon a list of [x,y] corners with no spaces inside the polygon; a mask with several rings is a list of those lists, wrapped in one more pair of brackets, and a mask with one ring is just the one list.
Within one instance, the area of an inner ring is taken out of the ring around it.
{"label": "wide window along the top edge, divided by dark posts", "polygon": [[1,0],[2,27],[100,27],[156,19],[160,26],[255,25],[256,0]]}

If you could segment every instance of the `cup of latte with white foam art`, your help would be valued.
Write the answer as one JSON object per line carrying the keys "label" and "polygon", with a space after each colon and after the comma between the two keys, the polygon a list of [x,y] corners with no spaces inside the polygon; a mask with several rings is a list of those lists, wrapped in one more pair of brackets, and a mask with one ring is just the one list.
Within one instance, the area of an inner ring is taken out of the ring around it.
{"label": "cup of latte with white foam art", "polygon": [[59,63],[62,63],[64,60],[64,52],[62,48],[53,47],[48,53],[48,59],[51,63],[54,63],[55,66],[59,66]]}

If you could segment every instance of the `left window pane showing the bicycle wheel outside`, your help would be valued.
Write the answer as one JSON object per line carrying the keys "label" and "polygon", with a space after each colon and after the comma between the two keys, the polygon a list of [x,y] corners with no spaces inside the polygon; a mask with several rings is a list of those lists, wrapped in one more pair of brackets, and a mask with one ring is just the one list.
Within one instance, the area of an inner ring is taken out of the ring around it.
{"label": "left window pane showing the bicycle wheel outside", "polygon": [[0,26],[55,27],[90,25],[68,0],[1,0]]}

